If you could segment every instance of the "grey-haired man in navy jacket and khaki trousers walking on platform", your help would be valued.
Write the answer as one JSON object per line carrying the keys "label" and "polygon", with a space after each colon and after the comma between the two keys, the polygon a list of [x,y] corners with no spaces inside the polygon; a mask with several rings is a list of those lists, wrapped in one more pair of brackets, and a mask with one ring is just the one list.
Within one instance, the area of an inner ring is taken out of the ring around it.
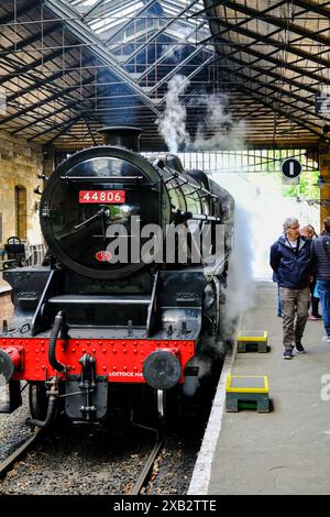
{"label": "grey-haired man in navy jacket and khaki trousers walking on platform", "polygon": [[310,305],[311,240],[299,234],[296,218],[287,218],[283,231],[271,248],[271,266],[277,277],[282,302],[283,359],[293,359],[295,345],[298,353],[305,352],[301,338]]}

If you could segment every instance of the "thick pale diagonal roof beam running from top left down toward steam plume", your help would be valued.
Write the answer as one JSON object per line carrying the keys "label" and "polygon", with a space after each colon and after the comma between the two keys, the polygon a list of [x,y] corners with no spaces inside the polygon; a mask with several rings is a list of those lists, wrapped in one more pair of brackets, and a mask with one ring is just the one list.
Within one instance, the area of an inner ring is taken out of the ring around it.
{"label": "thick pale diagonal roof beam running from top left down toward steam plume", "polygon": [[54,14],[64,20],[65,25],[84,43],[91,44],[89,52],[92,53],[101,63],[109,65],[111,73],[122,79],[128,87],[138,94],[141,101],[145,103],[157,117],[160,116],[152,99],[145,95],[142,88],[132,79],[130,74],[119,65],[119,63],[109,54],[103,42],[89,29],[84,22],[76,20],[75,11],[64,0],[44,0],[44,4]]}

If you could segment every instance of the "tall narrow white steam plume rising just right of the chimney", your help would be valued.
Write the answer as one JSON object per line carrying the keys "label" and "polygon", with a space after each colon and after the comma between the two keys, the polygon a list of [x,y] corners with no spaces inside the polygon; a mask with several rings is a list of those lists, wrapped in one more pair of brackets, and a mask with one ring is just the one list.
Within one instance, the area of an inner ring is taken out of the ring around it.
{"label": "tall narrow white steam plume rising just right of the chimney", "polygon": [[174,154],[178,152],[182,144],[187,145],[189,142],[189,134],[186,131],[186,107],[179,101],[179,96],[188,86],[189,80],[185,76],[176,75],[170,79],[165,97],[165,111],[156,121],[169,152]]}

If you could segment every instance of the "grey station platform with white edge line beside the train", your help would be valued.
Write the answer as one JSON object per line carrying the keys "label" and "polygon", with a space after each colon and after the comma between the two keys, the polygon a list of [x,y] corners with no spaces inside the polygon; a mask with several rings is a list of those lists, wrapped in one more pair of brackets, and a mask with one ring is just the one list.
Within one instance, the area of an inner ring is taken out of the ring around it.
{"label": "grey station platform with white edge line beside the train", "polygon": [[[283,360],[277,286],[256,282],[256,306],[240,326],[266,330],[271,351],[226,358],[188,494],[330,494],[330,344],[322,342],[322,320],[307,322],[306,353]],[[228,374],[267,375],[272,411],[227,413]]]}

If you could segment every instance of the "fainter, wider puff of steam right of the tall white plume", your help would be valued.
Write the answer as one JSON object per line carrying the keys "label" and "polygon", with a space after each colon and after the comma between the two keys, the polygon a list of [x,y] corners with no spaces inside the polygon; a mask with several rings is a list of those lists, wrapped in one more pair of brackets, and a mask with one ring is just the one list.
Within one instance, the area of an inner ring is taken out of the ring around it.
{"label": "fainter, wider puff of steam right of the tall white plume", "polygon": [[[195,151],[244,148],[246,124],[235,122],[228,111],[228,97],[223,94],[200,96],[199,106],[206,107],[206,117],[199,123],[193,142]],[[207,136],[212,133],[211,136]]]}

